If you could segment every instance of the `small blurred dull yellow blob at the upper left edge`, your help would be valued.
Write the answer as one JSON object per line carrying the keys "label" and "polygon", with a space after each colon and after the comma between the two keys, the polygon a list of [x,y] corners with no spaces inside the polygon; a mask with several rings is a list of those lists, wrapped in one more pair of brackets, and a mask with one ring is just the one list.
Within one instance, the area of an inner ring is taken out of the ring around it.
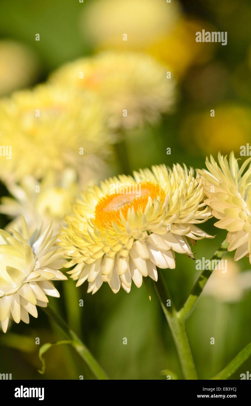
{"label": "small blurred dull yellow blob at the upper left edge", "polygon": [[0,96],[33,84],[39,63],[34,52],[16,41],[0,41]]}

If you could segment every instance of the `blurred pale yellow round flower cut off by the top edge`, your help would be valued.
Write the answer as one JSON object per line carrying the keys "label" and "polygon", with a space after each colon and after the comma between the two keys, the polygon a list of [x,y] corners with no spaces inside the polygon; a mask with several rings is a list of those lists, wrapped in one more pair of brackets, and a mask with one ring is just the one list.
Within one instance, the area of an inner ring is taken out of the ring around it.
{"label": "blurred pale yellow round flower cut off by the top edge", "polygon": [[[145,50],[172,30],[180,15],[178,2],[162,0],[97,0],[87,4],[80,18],[84,37],[96,50]],[[127,41],[123,35],[127,34]]]}

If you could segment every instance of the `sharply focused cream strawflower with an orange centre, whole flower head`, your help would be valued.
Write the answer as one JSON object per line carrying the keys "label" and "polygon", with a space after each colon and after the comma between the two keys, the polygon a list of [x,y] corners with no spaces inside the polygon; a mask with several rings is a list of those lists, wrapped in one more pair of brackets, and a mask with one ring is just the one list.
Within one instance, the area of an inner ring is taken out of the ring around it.
{"label": "sharply focused cream strawflower with an orange centre, whole flower head", "polygon": [[157,281],[157,267],[175,268],[175,252],[193,258],[189,242],[210,235],[196,224],[210,210],[202,202],[202,182],[193,169],[153,166],[120,175],[89,187],[67,216],[59,235],[67,258],[65,267],[77,286],[88,280],[94,294],[103,282],[114,293],[120,285],[130,292],[131,280],[140,287],[142,276]]}

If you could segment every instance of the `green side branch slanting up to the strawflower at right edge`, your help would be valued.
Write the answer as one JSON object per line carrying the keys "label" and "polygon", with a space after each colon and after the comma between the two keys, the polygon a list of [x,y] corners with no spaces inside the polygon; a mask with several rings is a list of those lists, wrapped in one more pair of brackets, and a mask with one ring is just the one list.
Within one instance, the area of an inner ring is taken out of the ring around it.
{"label": "green side branch slanting up to the strawflower at right edge", "polygon": [[[214,255],[210,259],[210,261],[215,261],[215,260],[220,260],[225,253],[227,252],[227,247],[228,243],[226,240],[224,240],[219,249],[215,251]],[[202,293],[202,290],[204,289],[204,286],[206,285],[206,282],[208,281],[208,278],[212,274],[212,271],[214,270],[214,263],[212,263],[212,266],[210,267],[211,269],[204,269],[202,273],[200,274],[199,278],[197,279],[189,297],[187,298],[187,301],[185,302],[184,306],[182,309],[180,309],[179,317],[181,320],[186,320],[191,313],[193,312],[193,309],[195,308],[197,301],[200,297],[200,294]]]}

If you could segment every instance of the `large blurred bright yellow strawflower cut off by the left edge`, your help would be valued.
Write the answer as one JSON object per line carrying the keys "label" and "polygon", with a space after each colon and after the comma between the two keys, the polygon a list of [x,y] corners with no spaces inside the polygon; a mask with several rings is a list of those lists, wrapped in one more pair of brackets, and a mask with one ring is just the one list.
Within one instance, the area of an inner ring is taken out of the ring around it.
{"label": "large blurred bright yellow strawflower cut off by the left edge", "polygon": [[0,102],[0,177],[42,177],[48,169],[99,167],[109,152],[105,108],[97,97],[49,85]]}

